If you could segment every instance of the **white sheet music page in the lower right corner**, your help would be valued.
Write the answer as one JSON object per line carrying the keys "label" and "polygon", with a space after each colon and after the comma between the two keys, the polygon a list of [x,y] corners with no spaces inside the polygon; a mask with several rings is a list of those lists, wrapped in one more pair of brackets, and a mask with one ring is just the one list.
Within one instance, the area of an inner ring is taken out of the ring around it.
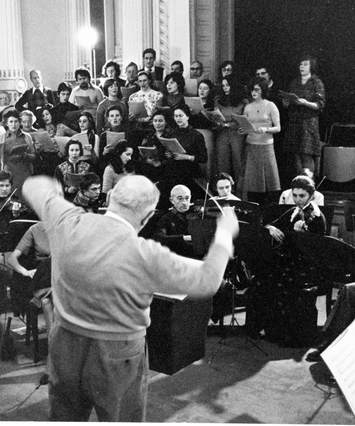
{"label": "white sheet music page in the lower right corner", "polygon": [[321,353],[355,414],[355,320]]}

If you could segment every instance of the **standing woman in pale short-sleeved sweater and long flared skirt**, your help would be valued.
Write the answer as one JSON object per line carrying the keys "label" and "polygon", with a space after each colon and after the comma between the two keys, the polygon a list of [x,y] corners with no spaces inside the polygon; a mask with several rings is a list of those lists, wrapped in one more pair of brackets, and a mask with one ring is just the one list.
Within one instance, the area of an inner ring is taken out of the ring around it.
{"label": "standing woman in pale short-sleeved sweater and long flared skirt", "polygon": [[280,114],[277,106],[266,99],[264,79],[253,79],[250,91],[252,101],[245,107],[244,114],[255,130],[239,129],[240,133],[247,134],[244,188],[248,201],[264,204],[267,198],[276,201],[281,189],[273,140],[273,134],[281,130]]}

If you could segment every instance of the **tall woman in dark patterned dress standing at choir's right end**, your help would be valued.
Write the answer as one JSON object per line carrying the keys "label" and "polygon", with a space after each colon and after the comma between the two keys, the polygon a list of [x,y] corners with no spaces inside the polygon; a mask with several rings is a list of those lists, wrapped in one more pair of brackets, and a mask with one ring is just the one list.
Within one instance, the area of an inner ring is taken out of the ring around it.
{"label": "tall woman in dark patterned dress standing at choir's right end", "polygon": [[293,157],[296,173],[305,168],[317,174],[316,163],[320,156],[318,117],[325,106],[325,90],[322,81],[314,74],[316,60],[304,56],[299,62],[299,77],[290,84],[294,98],[284,98],[288,108],[288,127],[284,151]]}

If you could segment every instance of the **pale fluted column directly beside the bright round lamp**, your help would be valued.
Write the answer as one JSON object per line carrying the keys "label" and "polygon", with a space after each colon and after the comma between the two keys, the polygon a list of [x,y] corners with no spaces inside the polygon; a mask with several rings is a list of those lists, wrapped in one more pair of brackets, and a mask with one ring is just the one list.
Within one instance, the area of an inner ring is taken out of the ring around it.
{"label": "pale fluted column directly beside the bright round lamp", "polygon": [[65,1],[65,46],[66,66],[65,80],[74,80],[74,71],[79,66],[90,66],[90,46],[81,46],[78,31],[90,25],[89,0],[64,0]]}

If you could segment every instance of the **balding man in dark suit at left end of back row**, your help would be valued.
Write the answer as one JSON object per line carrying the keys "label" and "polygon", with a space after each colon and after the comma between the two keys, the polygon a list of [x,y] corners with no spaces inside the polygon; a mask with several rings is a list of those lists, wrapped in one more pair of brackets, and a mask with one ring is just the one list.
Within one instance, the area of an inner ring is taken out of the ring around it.
{"label": "balding man in dark suit at left end of back row", "polygon": [[30,71],[30,80],[33,84],[31,89],[25,93],[16,102],[15,108],[18,111],[29,109],[33,113],[42,108],[44,105],[55,104],[55,96],[51,89],[43,86],[42,75],[38,70]]}

